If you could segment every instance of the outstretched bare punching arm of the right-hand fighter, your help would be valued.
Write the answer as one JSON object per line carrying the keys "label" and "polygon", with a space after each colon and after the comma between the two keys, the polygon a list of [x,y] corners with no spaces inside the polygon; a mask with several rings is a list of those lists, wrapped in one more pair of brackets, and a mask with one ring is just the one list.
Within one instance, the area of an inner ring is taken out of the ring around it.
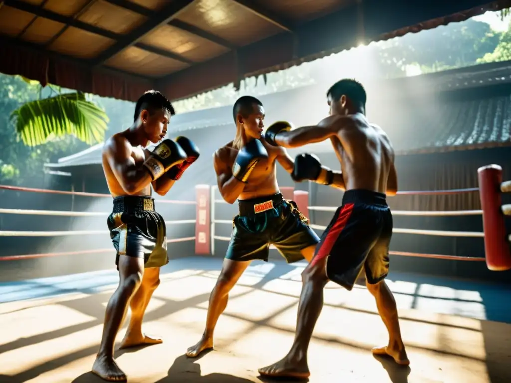
{"label": "outstretched bare punching arm of the right-hand fighter", "polygon": [[280,132],[275,136],[277,145],[285,148],[295,148],[307,145],[308,143],[324,141],[337,134],[339,130],[336,122],[342,117],[329,116],[322,119],[319,124],[304,126],[287,132]]}

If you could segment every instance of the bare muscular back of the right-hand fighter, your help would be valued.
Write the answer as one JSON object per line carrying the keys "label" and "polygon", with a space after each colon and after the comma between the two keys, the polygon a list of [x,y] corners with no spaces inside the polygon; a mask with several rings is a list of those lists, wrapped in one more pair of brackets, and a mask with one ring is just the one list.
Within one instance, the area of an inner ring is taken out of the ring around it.
{"label": "bare muscular back of the right-hand fighter", "polygon": [[331,141],[341,162],[346,190],[368,189],[385,194],[394,160],[386,133],[369,124],[361,113],[341,117],[338,124],[337,135]]}

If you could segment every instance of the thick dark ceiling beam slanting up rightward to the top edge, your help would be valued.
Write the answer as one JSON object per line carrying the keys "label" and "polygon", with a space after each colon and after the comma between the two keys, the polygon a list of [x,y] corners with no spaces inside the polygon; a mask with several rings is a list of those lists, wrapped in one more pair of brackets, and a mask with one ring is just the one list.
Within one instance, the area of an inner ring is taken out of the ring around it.
{"label": "thick dark ceiling beam slanting up rightward to the top edge", "polygon": [[94,61],[94,65],[102,65],[112,56],[117,55],[129,46],[137,43],[138,40],[143,38],[149,32],[158,28],[161,25],[167,24],[172,18],[176,17],[179,12],[189,7],[195,0],[175,0],[169,3],[164,8],[160,9],[151,18],[149,18],[140,28],[128,33],[120,38],[115,44],[110,46],[102,52]]}

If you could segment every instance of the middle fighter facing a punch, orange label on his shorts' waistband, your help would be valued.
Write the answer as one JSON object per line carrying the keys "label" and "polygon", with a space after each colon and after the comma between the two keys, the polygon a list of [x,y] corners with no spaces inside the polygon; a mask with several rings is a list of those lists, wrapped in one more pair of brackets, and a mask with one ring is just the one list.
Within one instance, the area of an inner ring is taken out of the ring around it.
{"label": "middle fighter facing a punch, orange label on his shorts' waistband", "polygon": [[233,220],[227,253],[210,295],[206,326],[200,341],[189,347],[197,356],[213,347],[213,331],[227,305],[230,289],[251,260],[268,261],[270,245],[288,263],[310,261],[319,237],[292,201],[285,201],[276,177],[276,161],[292,172],[293,159],[283,147],[269,145],[262,137],[265,111],[258,99],[244,96],[233,107],[236,135],[213,155],[218,189],[229,204],[238,199],[239,215]]}

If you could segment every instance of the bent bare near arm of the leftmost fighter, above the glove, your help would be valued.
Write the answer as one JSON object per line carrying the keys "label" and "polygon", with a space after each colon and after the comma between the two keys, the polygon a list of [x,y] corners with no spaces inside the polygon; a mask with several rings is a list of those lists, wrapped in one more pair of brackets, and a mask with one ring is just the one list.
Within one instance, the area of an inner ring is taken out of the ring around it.
{"label": "bent bare near arm of the leftmost fighter, above the glove", "polygon": [[135,165],[131,148],[125,138],[113,136],[105,145],[103,153],[126,194],[135,194],[151,183],[151,175],[146,167]]}

